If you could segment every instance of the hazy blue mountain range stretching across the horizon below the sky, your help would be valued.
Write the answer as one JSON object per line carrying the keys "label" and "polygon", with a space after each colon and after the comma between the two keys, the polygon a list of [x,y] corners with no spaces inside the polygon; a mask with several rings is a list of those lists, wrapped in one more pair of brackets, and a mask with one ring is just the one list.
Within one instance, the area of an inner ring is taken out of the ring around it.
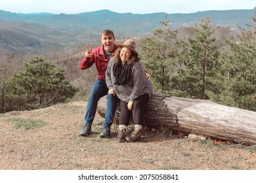
{"label": "hazy blue mountain range stretching across the horizon below the sky", "polygon": [[[160,27],[166,13],[132,14],[110,10],[79,14],[16,14],[0,10],[0,48],[21,54],[38,54],[70,43],[96,42],[103,29],[115,31],[117,39],[149,35]],[[173,29],[191,27],[209,16],[213,25],[236,29],[244,26],[254,10],[210,10],[190,14],[167,14]]]}

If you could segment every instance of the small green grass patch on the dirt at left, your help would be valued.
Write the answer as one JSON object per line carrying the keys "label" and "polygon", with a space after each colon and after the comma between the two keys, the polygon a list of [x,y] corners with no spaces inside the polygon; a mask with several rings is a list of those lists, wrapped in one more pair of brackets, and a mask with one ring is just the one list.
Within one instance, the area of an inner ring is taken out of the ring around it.
{"label": "small green grass patch on the dirt at left", "polygon": [[14,118],[13,120],[16,129],[24,128],[24,129],[34,129],[36,127],[42,127],[46,123],[42,120],[33,120],[33,119],[22,119],[22,118]]}

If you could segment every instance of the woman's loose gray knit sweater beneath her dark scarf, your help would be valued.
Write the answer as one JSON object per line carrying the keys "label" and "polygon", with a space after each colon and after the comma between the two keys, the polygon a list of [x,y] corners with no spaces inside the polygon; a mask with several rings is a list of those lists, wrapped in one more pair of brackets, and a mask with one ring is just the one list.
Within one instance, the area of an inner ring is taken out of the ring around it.
{"label": "woman's loose gray knit sweater beneath her dark scarf", "polygon": [[121,101],[129,102],[136,101],[136,99],[143,95],[144,93],[148,93],[148,95],[152,95],[153,88],[151,82],[146,78],[146,73],[143,69],[142,63],[137,61],[133,64],[132,70],[132,78],[131,80],[124,85],[114,84],[116,82],[116,78],[113,75],[114,68],[114,57],[110,59],[108,62],[108,67],[106,69],[106,84],[108,89],[114,89],[117,97]]}

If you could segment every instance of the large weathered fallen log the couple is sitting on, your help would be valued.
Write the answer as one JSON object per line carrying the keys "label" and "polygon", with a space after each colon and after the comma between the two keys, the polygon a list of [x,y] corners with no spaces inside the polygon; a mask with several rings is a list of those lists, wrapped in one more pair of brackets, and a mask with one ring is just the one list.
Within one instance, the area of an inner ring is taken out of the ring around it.
{"label": "large weathered fallen log the couple is sitting on", "polygon": [[[97,111],[104,118],[106,97]],[[117,104],[115,120],[118,120]],[[144,125],[222,141],[256,144],[256,112],[218,105],[212,101],[185,99],[154,93],[146,105]]]}

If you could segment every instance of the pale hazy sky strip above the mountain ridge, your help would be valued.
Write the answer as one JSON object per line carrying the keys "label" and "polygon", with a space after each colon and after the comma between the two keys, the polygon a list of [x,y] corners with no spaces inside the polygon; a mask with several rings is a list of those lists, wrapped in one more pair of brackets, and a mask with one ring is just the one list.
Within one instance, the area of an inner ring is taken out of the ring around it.
{"label": "pale hazy sky strip above the mountain ridge", "polygon": [[205,10],[253,9],[256,0],[0,0],[0,10],[9,12],[77,14],[108,9],[114,12],[191,13]]}

